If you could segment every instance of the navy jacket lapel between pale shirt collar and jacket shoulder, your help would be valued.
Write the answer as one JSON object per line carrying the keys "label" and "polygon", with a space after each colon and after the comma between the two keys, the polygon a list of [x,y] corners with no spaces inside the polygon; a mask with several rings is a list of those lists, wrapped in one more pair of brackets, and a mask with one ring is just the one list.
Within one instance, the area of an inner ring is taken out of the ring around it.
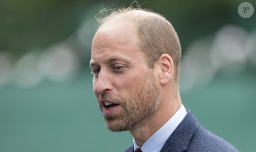
{"label": "navy jacket lapel between pale shirt collar and jacket shoulder", "polygon": [[195,134],[199,123],[192,113],[187,110],[187,115],[167,139],[160,152],[183,152],[188,149],[189,142]]}

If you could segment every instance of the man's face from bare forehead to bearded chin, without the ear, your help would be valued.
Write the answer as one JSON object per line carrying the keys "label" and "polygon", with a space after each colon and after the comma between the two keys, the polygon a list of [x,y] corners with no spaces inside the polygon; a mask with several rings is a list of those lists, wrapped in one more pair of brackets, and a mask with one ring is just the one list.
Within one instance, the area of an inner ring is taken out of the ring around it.
{"label": "man's face from bare forehead to bearded chin, without the ear", "polygon": [[137,43],[136,28],[129,22],[103,25],[92,42],[93,89],[111,131],[129,130],[158,109],[154,70]]}

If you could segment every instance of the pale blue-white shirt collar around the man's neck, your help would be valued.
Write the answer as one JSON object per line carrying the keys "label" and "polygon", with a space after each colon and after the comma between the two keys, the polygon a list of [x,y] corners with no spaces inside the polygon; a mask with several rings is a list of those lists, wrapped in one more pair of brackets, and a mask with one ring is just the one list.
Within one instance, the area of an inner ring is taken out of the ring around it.
{"label": "pale blue-white shirt collar around the man's neck", "polygon": [[139,147],[133,138],[134,149],[141,148],[142,152],[160,152],[163,145],[178,127],[181,121],[186,116],[187,111],[184,105],[169,119],[157,132],[155,132],[143,145]]}

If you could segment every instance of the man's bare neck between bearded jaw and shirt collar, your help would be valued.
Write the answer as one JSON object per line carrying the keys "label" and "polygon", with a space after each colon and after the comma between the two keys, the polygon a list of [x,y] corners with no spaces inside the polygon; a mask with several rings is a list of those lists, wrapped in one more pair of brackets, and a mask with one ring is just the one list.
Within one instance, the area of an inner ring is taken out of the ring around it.
{"label": "man's bare neck between bearded jaw and shirt collar", "polygon": [[[170,101],[171,100],[171,101]],[[129,130],[136,143],[141,147],[157,130],[159,130],[181,107],[180,96],[163,98],[156,112],[144,118]]]}

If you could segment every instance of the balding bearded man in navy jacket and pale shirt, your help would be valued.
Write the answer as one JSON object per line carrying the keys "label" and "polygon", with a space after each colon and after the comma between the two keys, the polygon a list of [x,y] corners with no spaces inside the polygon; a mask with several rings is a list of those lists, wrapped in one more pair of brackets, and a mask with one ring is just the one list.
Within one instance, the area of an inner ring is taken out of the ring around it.
{"label": "balding bearded man in navy jacket and pale shirt", "polygon": [[133,7],[99,22],[90,61],[93,89],[106,127],[133,136],[124,152],[237,151],[182,105],[181,47],[170,22]]}

